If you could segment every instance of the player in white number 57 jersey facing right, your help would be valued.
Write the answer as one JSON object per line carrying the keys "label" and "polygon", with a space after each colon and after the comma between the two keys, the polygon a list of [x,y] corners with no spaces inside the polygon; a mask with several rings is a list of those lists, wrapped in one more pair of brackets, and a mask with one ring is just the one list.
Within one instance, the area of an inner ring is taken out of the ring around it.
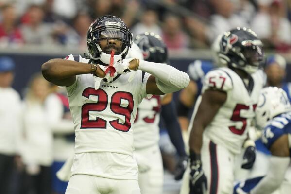
{"label": "player in white number 57 jersey facing right", "polygon": [[[190,168],[184,174],[181,194],[232,193],[234,159],[247,139],[263,87],[257,72],[264,55],[262,42],[253,31],[236,28],[224,33],[220,49],[221,62],[228,67],[205,76],[190,123]],[[245,147],[242,167],[250,168],[254,147],[248,143]]]}

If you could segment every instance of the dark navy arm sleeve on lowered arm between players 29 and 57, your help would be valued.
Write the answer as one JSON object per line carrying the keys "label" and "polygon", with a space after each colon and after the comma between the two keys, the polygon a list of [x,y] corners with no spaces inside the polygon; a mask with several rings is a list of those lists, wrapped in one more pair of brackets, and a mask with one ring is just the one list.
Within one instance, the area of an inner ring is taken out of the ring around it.
{"label": "dark navy arm sleeve on lowered arm between players 29 and 57", "polygon": [[182,132],[178,123],[177,112],[173,101],[171,101],[171,103],[169,104],[162,106],[161,116],[165,121],[169,137],[171,139],[171,142],[175,146],[179,156],[186,156]]}

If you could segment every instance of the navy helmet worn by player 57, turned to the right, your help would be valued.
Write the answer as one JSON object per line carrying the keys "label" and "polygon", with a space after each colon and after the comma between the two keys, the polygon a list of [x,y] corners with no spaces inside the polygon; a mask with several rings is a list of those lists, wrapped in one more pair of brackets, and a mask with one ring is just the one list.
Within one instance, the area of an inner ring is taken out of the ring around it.
{"label": "navy helmet worn by player 57, turned to the right", "polygon": [[254,31],[238,27],[224,33],[218,56],[224,65],[251,74],[262,68],[263,44]]}

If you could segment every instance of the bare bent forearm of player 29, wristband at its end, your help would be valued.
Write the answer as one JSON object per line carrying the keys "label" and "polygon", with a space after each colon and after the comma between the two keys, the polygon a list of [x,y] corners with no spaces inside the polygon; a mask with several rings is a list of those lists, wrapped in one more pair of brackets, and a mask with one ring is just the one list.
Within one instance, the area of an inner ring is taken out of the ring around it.
{"label": "bare bent forearm of player 29, wristband at its end", "polygon": [[[41,67],[43,76],[48,81],[63,80],[75,75],[91,73],[91,64],[65,59],[51,59]],[[96,75],[104,77],[105,73],[97,66]]]}

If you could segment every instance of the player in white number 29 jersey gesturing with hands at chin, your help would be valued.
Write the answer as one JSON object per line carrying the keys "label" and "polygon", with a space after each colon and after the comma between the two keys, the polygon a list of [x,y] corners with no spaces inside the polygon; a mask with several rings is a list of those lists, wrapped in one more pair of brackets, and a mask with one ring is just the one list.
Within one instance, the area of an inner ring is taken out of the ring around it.
{"label": "player in white number 29 jersey gesturing with hands at chin", "polygon": [[90,59],[69,55],[69,60],[51,59],[42,65],[47,80],[66,86],[75,124],[66,194],[140,194],[132,156],[137,106],[147,94],[187,87],[189,77],[169,65],[124,59],[132,33],[115,16],[95,20],[87,44]]}

